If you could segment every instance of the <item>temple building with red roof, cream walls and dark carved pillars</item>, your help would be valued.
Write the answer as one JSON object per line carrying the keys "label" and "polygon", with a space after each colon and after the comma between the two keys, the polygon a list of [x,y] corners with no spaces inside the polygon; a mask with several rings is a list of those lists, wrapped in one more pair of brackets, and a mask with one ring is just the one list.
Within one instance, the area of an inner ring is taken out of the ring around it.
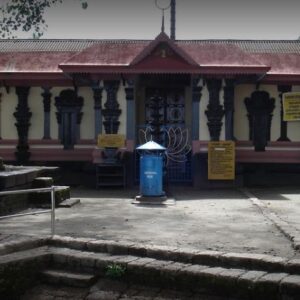
{"label": "temple building with red roof, cream walls and dark carved pillars", "polygon": [[[300,124],[283,119],[288,92],[300,92],[300,40],[175,40],[163,31],[153,40],[0,40],[0,156],[96,166],[98,135],[121,134],[130,186],[141,135],[151,127],[164,144],[173,128],[183,146],[167,165],[170,183],[296,183]],[[227,140],[236,179],[209,180],[208,142]]]}

